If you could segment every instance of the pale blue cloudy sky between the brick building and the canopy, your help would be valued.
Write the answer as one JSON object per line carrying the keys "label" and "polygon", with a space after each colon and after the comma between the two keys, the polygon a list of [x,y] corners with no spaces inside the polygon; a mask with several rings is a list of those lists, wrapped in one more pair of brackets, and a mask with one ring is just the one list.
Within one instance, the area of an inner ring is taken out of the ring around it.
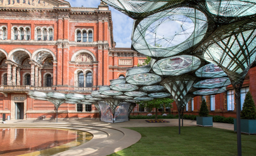
{"label": "pale blue cloudy sky between the brick building and the canopy", "polygon": [[[98,7],[100,0],[66,0],[72,7]],[[131,47],[133,19],[109,6],[112,12],[113,35],[116,47]]]}

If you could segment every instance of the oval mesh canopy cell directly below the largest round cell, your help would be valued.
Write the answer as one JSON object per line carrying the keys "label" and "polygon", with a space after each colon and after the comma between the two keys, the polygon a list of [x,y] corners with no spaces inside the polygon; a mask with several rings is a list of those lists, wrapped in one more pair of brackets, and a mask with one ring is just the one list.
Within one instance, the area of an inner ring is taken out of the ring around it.
{"label": "oval mesh canopy cell directly below the largest round cell", "polygon": [[156,62],[153,71],[159,75],[178,76],[198,69],[200,64],[200,59],[195,56],[174,56]]}

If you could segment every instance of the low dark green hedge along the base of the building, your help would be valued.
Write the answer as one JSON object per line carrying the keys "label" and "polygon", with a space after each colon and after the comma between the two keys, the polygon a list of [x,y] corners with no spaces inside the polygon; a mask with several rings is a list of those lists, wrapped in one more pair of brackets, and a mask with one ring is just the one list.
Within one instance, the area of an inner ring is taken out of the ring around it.
{"label": "low dark green hedge along the base of the building", "polygon": [[[130,119],[154,119],[156,115],[152,115],[152,116],[145,116],[145,115],[137,115],[137,116],[130,116]],[[187,120],[197,120],[197,116],[198,115],[187,115],[184,114],[183,119],[187,119]],[[225,118],[224,116],[213,116],[213,115],[208,115],[208,116],[212,116],[213,118],[213,122],[221,122],[221,123],[230,123],[230,124],[234,124],[234,118],[233,117],[228,117]],[[179,115],[173,115],[173,114],[169,114],[167,116],[162,116],[162,115],[158,115],[158,119],[178,119]]]}

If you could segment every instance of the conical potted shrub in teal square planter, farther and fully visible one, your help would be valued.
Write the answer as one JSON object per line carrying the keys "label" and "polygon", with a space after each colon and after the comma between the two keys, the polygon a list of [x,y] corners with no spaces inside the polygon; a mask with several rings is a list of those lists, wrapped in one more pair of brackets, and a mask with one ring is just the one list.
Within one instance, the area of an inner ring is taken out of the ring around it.
{"label": "conical potted shrub in teal square planter, farther and fully visible one", "polygon": [[202,101],[202,105],[199,110],[199,116],[197,116],[197,125],[203,126],[203,127],[212,127],[212,116],[208,116],[209,111],[208,107],[206,105],[205,99]]}

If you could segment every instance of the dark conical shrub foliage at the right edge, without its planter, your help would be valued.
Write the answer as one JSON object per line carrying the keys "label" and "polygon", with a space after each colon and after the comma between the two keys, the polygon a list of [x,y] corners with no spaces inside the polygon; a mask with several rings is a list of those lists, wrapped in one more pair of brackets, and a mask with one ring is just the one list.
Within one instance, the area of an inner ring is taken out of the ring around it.
{"label": "dark conical shrub foliage at the right edge, without its planter", "polygon": [[250,91],[245,96],[245,102],[243,103],[243,110],[241,111],[241,119],[255,120],[256,119],[256,107]]}

